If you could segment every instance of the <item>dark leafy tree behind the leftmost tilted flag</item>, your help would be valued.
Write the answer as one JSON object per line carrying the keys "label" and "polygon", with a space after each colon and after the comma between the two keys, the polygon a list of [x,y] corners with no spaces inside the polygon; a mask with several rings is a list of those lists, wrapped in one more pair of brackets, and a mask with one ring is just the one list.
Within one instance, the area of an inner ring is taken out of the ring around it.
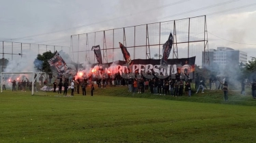
{"label": "dark leafy tree behind the leftmost tilted flag", "polygon": [[37,59],[40,61],[43,61],[42,63],[42,72],[46,72],[46,74],[48,74],[49,72],[52,72],[51,70],[51,65],[48,63],[48,60],[53,58],[54,53],[52,53],[51,51],[49,52],[44,52],[43,54],[38,54]]}

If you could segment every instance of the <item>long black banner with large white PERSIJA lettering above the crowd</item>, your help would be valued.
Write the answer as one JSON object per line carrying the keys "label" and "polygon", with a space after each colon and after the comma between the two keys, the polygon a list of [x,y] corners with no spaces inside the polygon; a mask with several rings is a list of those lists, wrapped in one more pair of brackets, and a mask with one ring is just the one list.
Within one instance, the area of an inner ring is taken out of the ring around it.
{"label": "long black banner with large white PERSIJA lettering above the crowd", "polygon": [[[195,72],[195,57],[184,59],[167,59],[166,68],[160,67],[160,59],[134,59],[132,65],[128,66],[126,61],[115,61],[112,63],[104,63],[104,72],[111,74],[127,74],[127,73],[154,73],[162,74],[164,76],[171,76],[175,78],[175,74],[179,74],[181,77],[194,78]],[[91,68],[97,64],[93,64]],[[182,78],[183,79],[183,78]]]}

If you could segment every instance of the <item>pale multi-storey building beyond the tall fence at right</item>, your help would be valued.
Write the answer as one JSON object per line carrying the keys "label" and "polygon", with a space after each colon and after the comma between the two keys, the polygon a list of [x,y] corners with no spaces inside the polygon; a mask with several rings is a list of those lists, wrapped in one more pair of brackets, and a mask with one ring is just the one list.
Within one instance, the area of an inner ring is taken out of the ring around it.
{"label": "pale multi-storey building beyond the tall fence at right", "polygon": [[[206,53],[205,53],[206,54]],[[210,69],[224,69],[225,67],[231,67],[239,65],[239,63],[247,63],[247,53],[241,50],[234,50],[228,47],[218,47],[215,49],[210,49],[209,55],[209,65],[204,65],[204,54],[202,58],[202,65],[207,66]],[[206,56],[205,56],[206,57]]]}

